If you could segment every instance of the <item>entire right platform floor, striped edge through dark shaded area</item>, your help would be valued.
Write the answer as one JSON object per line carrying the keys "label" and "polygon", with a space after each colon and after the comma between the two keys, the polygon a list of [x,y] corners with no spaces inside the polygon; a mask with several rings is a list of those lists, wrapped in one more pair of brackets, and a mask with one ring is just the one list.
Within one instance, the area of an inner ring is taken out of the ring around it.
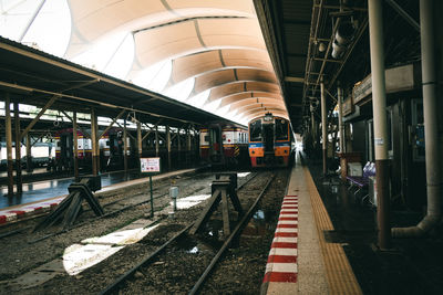
{"label": "entire right platform floor, striped edge through dark shaded area", "polygon": [[[441,294],[443,223],[420,239],[392,239],[381,251],[377,208],[363,194],[339,176],[323,177],[321,159],[297,155],[261,294]],[[392,204],[391,226],[422,218]]]}

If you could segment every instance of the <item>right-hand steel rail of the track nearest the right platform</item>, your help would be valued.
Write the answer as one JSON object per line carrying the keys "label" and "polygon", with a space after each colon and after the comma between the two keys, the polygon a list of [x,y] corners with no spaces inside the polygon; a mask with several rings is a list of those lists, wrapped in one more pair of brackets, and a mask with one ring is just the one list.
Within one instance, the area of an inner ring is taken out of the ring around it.
{"label": "right-hand steel rail of the track nearest the right platform", "polygon": [[240,232],[240,230],[244,228],[247,221],[251,218],[253,213],[256,210],[256,207],[258,202],[261,200],[261,197],[265,194],[267,191],[270,182],[272,182],[275,178],[275,175],[268,180],[266,183],[265,188],[261,190],[260,194],[257,197],[256,201],[253,203],[253,206],[249,208],[248,212],[243,217],[241,221],[237,224],[233,233],[229,235],[229,238],[225,241],[220,250],[217,252],[217,254],[214,256],[205,272],[202,274],[202,276],[198,278],[197,283],[194,285],[194,287],[190,289],[188,293],[189,295],[194,295],[198,292],[205,280],[207,278],[208,274],[210,271],[214,268],[214,266],[217,264],[218,260],[222,257],[222,254],[225,252],[225,250],[229,246],[229,244],[233,242],[234,238]]}

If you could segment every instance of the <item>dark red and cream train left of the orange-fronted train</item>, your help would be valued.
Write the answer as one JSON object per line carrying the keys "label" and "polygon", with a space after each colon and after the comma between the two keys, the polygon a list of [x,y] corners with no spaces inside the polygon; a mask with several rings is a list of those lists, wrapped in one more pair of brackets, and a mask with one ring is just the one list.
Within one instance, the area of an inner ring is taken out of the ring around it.
{"label": "dark red and cream train left of the orange-fronted train", "polygon": [[200,159],[212,165],[234,167],[248,161],[248,129],[238,124],[214,122],[200,128]]}

